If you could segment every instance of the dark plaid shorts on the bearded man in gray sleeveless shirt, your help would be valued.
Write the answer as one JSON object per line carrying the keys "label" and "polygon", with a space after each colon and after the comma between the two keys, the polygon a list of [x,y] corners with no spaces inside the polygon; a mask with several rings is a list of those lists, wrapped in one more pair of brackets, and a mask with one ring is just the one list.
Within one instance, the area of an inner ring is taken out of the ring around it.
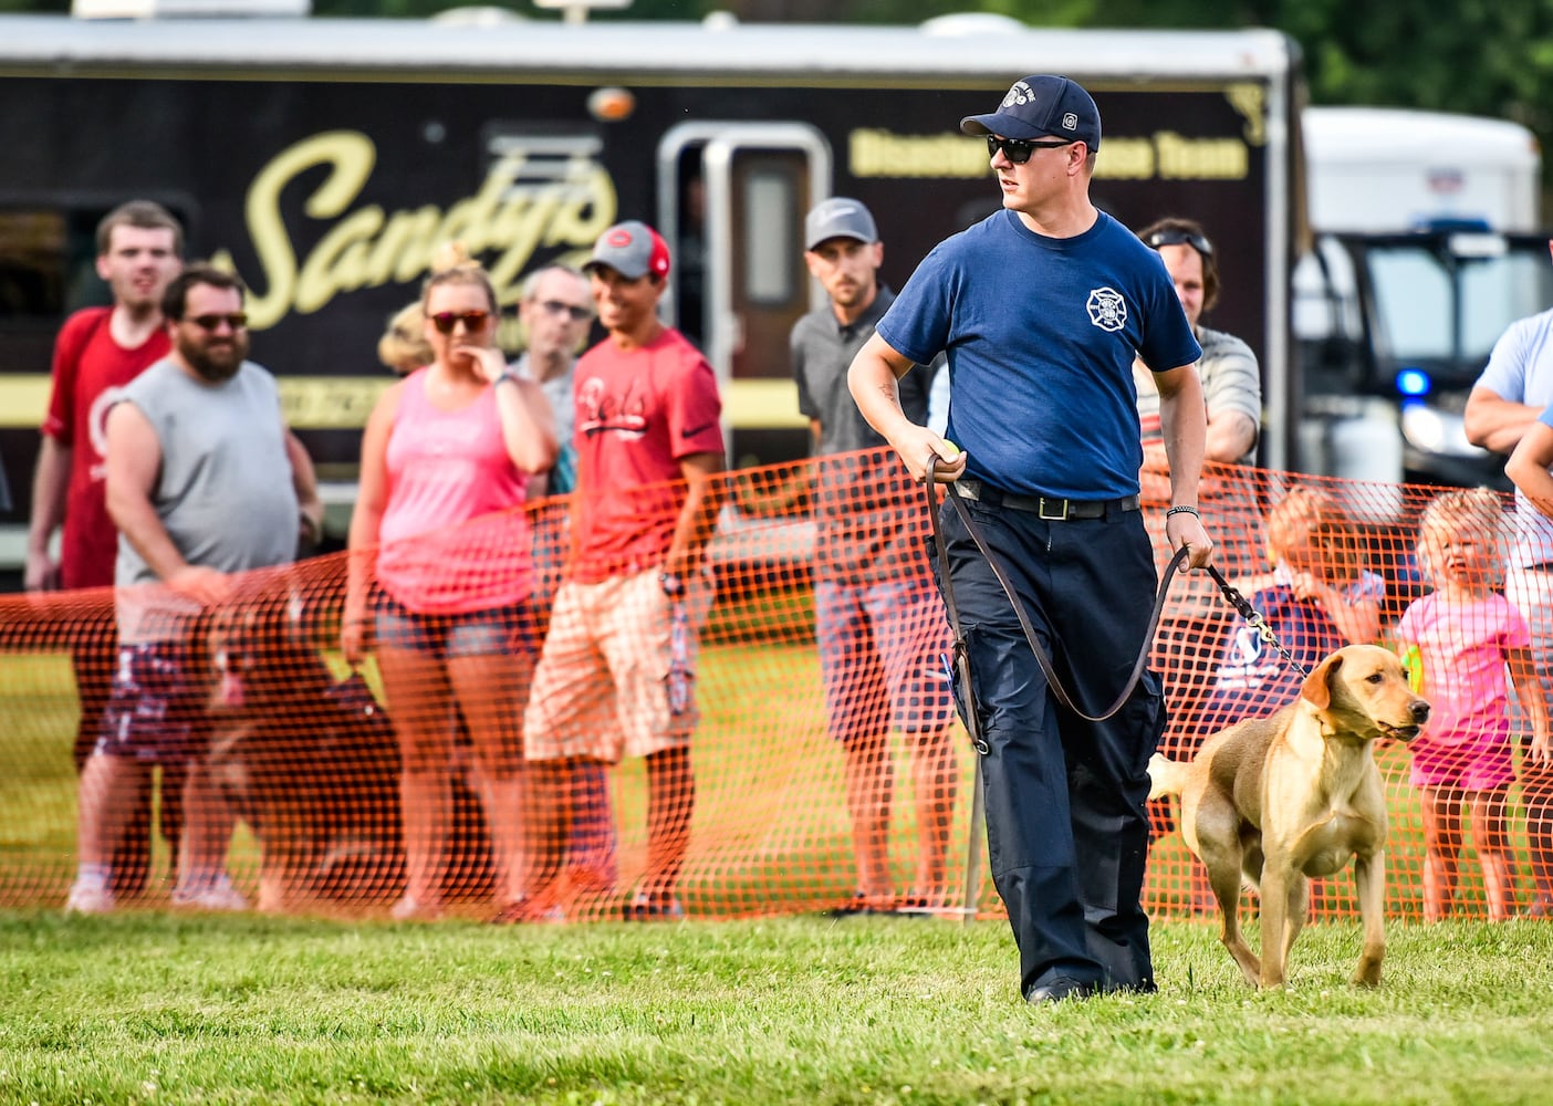
{"label": "dark plaid shorts on the bearded man in gray sleeveless shirt", "polygon": [[193,671],[182,642],[121,645],[96,752],[149,764],[193,760],[210,739],[208,696],[208,677]]}

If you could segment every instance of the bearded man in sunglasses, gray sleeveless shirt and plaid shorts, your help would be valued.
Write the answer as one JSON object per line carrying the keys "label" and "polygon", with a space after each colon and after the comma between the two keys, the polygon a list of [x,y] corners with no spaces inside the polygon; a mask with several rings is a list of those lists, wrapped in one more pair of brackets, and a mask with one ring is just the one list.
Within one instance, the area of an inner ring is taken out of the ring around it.
{"label": "bearded man in sunglasses, gray sleeveless shirt and plaid shorts", "polygon": [[[67,909],[104,913],[110,842],[152,764],[188,764],[175,904],[241,910],[225,854],[233,816],[203,766],[207,679],[188,621],[225,601],[228,573],[292,561],[321,519],[312,463],[286,429],[275,377],[248,351],[244,287],[191,266],[168,286],[172,353],[107,416],[107,508],[118,527],[118,668],[81,775],[78,875]],[[278,478],[290,474],[290,480]]]}

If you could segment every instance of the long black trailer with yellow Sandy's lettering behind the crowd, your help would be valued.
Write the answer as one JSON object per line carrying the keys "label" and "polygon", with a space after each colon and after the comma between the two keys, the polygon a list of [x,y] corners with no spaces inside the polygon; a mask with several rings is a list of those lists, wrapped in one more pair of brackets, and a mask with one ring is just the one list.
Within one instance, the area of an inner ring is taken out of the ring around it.
{"label": "long black trailer with yellow Sandy's lettering behind the crowd", "polygon": [[[1101,207],[1211,228],[1227,276],[1213,322],[1250,342],[1269,410],[1287,410],[1301,90],[1275,31],[0,17],[11,522],[26,517],[54,332],[104,297],[92,230],[130,197],[166,203],[191,256],[245,278],[253,356],[281,376],[342,513],[388,382],[377,336],[452,238],[512,303],[525,272],[578,261],[610,222],[654,222],[676,258],[665,309],[724,382],[731,463],[801,455],[787,329],[818,295],[804,211],[863,199],[899,286],[999,202],[958,120],[1036,71],[1082,81],[1101,107]],[[1283,421],[1264,435],[1280,468]]]}

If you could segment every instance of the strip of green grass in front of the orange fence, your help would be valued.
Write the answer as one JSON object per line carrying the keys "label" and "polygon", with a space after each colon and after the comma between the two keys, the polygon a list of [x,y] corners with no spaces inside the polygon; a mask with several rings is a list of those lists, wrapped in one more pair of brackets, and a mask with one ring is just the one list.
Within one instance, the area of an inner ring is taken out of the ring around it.
{"label": "strip of green grass in front of the orange fence", "polygon": [[1553,926],[1308,929],[1247,988],[1031,1010],[1006,926],[495,929],[0,913],[0,1103],[1547,1103]]}

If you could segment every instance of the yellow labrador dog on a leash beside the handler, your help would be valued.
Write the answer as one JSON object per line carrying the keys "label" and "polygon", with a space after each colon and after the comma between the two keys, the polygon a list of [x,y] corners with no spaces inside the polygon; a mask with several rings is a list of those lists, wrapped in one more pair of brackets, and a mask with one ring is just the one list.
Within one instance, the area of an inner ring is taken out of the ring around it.
{"label": "yellow labrador dog on a leash beside the handler", "polygon": [[[1381,982],[1385,955],[1385,792],[1378,738],[1412,741],[1429,719],[1398,659],[1373,645],[1326,657],[1300,697],[1210,738],[1191,763],[1157,755],[1151,792],[1180,795],[1180,828],[1208,870],[1224,916],[1221,940],[1253,986],[1283,986],[1305,926],[1312,876],[1354,857],[1364,952],[1353,982]],[[1239,926],[1241,879],[1261,895],[1263,955]]]}

